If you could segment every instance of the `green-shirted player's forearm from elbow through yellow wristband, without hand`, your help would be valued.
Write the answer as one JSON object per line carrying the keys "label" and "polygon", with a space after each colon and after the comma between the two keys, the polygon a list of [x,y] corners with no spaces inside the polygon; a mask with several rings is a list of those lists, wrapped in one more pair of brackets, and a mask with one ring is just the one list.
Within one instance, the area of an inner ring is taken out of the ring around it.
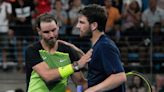
{"label": "green-shirted player's forearm from elbow through yellow wristband, without hand", "polygon": [[[66,68],[65,68],[66,67]],[[65,69],[66,74],[63,74],[64,72],[61,72],[62,69]],[[73,65],[69,64],[63,67],[59,68],[54,68],[50,69],[48,65],[45,62],[42,62],[36,66],[33,67],[33,70],[40,75],[40,77],[46,81],[46,82],[51,82],[51,81],[58,81],[62,79],[63,77],[66,77],[66,75],[71,75],[73,71]]]}

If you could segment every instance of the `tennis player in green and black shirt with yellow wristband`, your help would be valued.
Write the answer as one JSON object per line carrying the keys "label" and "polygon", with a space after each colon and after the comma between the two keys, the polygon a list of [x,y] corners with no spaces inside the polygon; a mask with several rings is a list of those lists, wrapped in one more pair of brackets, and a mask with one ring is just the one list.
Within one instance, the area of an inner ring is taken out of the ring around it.
{"label": "tennis player in green and black shirt with yellow wristband", "polygon": [[69,76],[87,87],[80,69],[90,61],[92,50],[84,54],[73,44],[57,40],[59,27],[48,13],[37,18],[36,28],[41,39],[25,51],[27,92],[65,92]]}

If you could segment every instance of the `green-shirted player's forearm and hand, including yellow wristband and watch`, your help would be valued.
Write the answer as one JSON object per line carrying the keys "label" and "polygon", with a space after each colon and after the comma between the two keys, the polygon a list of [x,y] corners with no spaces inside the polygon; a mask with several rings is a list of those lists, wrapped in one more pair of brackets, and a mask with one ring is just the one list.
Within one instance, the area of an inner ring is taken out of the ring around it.
{"label": "green-shirted player's forearm and hand, including yellow wristband and watch", "polygon": [[35,65],[33,67],[33,70],[38,73],[46,82],[56,81],[61,78],[67,78],[74,72],[79,71],[79,69],[82,69],[86,65],[86,63],[90,61],[91,55],[92,50],[88,51],[77,62],[55,69],[49,68],[47,63],[43,61]]}

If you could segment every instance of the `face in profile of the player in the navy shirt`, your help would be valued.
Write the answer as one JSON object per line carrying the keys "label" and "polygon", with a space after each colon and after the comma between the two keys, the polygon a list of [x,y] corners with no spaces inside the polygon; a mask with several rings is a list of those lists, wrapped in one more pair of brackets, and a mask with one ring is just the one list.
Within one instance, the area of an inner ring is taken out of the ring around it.
{"label": "face in profile of the player in the navy shirt", "polygon": [[76,27],[80,31],[80,37],[92,37],[92,30],[87,18],[83,15],[78,17],[78,22]]}

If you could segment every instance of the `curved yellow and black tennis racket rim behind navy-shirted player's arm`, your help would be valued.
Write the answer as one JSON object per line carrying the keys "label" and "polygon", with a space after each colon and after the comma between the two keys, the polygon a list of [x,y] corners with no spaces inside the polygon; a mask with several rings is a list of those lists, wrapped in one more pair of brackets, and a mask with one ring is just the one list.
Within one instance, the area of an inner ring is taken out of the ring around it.
{"label": "curved yellow and black tennis racket rim behind navy-shirted player's arm", "polygon": [[141,73],[136,72],[136,71],[132,71],[132,72],[128,72],[126,73],[127,78],[130,76],[137,76],[139,78],[141,78],[141,81],[144,81],[144,83],[146,84],[147,88],[148,88],[148,92],[152,92],[152,87],[151,84],[149,82],[149,80]]}

